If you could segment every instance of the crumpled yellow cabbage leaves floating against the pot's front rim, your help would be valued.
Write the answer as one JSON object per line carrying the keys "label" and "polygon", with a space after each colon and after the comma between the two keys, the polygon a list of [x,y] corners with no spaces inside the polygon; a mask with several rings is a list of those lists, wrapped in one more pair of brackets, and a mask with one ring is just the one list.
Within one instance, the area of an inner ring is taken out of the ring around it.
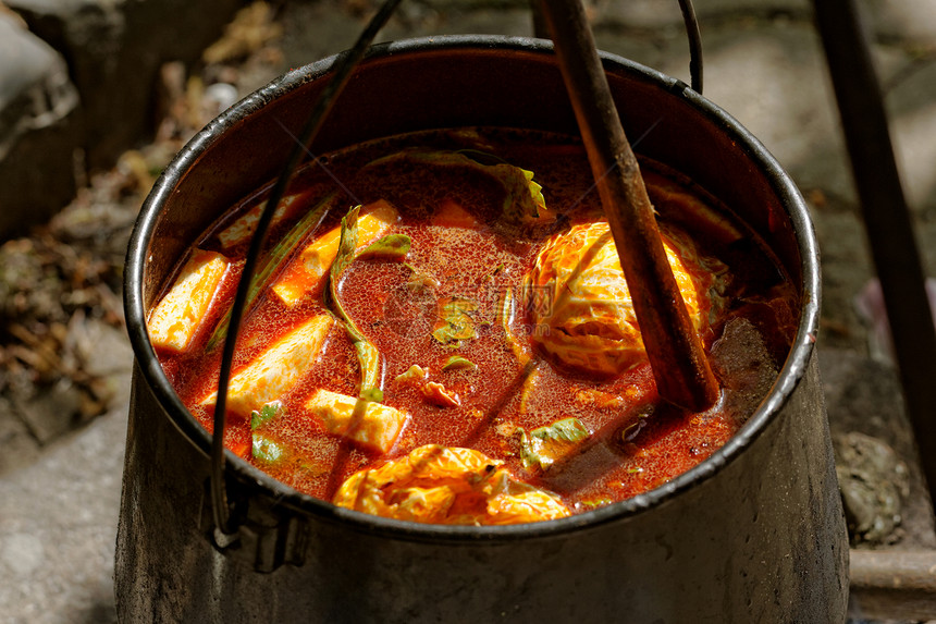
{"label": "crumpled yellow cabbage leaves floating against the pot's front rim", "polygon": [[383,517],[436,524],[504,525],[570,515],[554,494],[515,479],[471,449],[419,446],[360,470],[338,489],[336,505]]}

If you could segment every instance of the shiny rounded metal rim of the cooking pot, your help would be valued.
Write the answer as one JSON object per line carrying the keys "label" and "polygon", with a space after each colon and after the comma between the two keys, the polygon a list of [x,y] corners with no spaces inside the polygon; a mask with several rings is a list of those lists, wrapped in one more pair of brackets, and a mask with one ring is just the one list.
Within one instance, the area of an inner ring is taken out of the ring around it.
{"label": "shiny rounded metal rim of the cooking pot", "polygon": [[[549,40],[496,35],[455,35],[379,44],[371,47],[365,62],[399,54],[458,49],[553,54],[553,45]],[[341,54],[332,56],[290,71],[248,95],[206,125],[180,150],[157,180],[134,227],[124,269],[124,308],[127,332],[136,364],[156,399],[167,412],[168,417],[205,455],[210,455],[211,435],[197,423],[182,404],[164,376],[156,352],[149,342],[143,299],[143,278],[149,241],[156,230],[161,209],[171,197],[178,180],[185,171],[198,161],[204,152],[210,149],[221,134],[235,126],[244,118],[262,109],[274,98],[327,75],[340,57]],[[250,486],[267,490],[268,495],[275,500],[278,505],[292,507],[299,513],[309,513],[320,521],[342,523],[370,534],[418,541],[470,542],[477,540],[532,539],[624,521],[662,505],[724,469],[779,416],[783,406],[805,375],[818,330],[821,296],[818,246],[805,201],[792,180],[760,140],[717,105],[693,91],[681,81],[666,76],[656,70],[607,52],[600,52],[600,57],[607,71],[623,70],[626,73],[636,73],[644,79],[656,83],[672,96],[686,100],[703,118],[728,134],[737,146],[761,167],[790,219],[793,237],[801,255],[803,292],[801,317],[796,338],[790,346],[790,353],[774,386],[741,429],[709,458],[645,493],[566,518],[507,526],[430,525],[383,518],[337,507],[330,502],[294,490],[225,449],[229,475],[233,474]]]}

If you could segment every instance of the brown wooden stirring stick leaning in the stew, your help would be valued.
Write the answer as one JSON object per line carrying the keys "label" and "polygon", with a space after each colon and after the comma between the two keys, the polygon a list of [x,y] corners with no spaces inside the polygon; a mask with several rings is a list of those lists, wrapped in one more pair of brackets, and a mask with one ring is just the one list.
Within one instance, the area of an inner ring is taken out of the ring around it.
{"label": "brown wooden stirring stick leaning in the stew", "polygon": [[685,409],[718,400],[718,383],[692,327],[637,158],[624,134],[580,0],[540,0],[588,150],[660,395]]}

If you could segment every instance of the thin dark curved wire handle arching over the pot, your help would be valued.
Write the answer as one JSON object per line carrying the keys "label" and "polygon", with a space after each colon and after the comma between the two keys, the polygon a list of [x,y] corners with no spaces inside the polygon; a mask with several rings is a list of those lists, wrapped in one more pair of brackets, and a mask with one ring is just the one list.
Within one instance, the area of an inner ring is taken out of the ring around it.
{"label": "thin dark curved wire handle arching over the pot", "polygon": [[[276,206],[279,206],[286,187],[293,176],[295,169],[298,167],[303,156],[308,151],[308,146],[315,140],[321,130],[325,118],[331,112],[344,87],[347,85],[355,68],[364,59],[367,49],[373,41],[377,34],[390,20],[393,12],[402,0],[386,0],[380,10],[368,22],[367,27],[358,37],[354,47],[344,52],[335,69],[334,77],[329,81],[324,89],[316,102],[316,108],[303,126],[301,132],[296,136],[294,145],[286,166],[282,173],[276,179],[269,197],[267,205],[260,211],[260,218],[257,222],[257,229],[250,240],[250,247],[247,250],[247,256],[244,262],[244,269],[241,273],[241,280],[237,284],[237,291],[234,295],[234,303],[231,307],[231,319],[229,322],[227,334],[224,339],[224,347],[221,355],[221,368],[218,380],[218,397],[214,404],[213,418],[213,435],[211,440],[211,466],[210,466],[210,497],[211,509],[214,519],[215,542],[220,546],[222,542],[231,540],[232,536],[237,534],[237,524],[232,522],[234,510],[227,500],[227,488],[224,480],[224,430],[226,425],[227,409],[227,390],[230,386],[231,368],[234,360],[234,350],[237,343],[237,334],[241,328],[241,321],[244,317],[244,308],[246,307],[247,296],[250,289],[250,281],[257,268],[257,262],[260,253],[266,244],[267,233],[270,229],[273,215]],[[537,17],[537,9],[534,3],[534,23]],[[695,21],[695,10],[692,5],[692,0],[679,0],[679,8],[682,12],[682,20],[686,25],[686,33],[689,37],[689,53],[690,63],[689,71],[691,75],[692,88],[702,93],[702,47],[699,34],[699,25]],[[539,30],[539,26],[537,27]],[[539,34],[539,33],[538,33]]]}

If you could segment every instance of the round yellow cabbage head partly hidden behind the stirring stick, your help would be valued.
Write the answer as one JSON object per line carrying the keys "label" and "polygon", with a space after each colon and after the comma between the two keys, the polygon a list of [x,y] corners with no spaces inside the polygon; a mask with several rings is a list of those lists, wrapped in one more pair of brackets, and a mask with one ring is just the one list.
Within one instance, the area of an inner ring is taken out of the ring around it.
{"label": "round yellow cabbage head partly hidden behind the stirring stick", "polygon": [[[663,234],[664,248],[697,331],[707,328],[714,277],[689,242]],[[630,291],[606,221],[574,225],[553,236],[527,276],[528,295],[539,297],[533,321],[546,331],[534,339],[572,368],[617,375],[645,360]]]}

